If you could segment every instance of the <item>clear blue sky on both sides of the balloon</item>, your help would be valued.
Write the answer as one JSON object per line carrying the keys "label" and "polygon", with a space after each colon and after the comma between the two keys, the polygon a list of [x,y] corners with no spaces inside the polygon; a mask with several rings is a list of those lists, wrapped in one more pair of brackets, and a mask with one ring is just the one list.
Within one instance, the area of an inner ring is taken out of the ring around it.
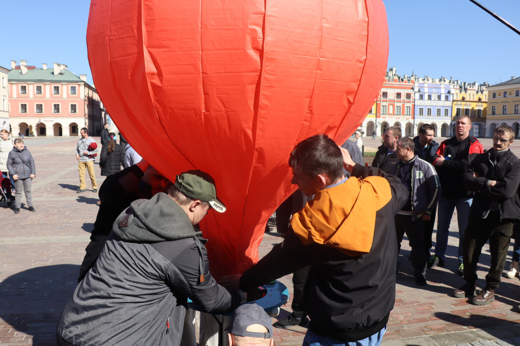
{"label": "clear blue sky on both sides of the balloon", "polygon": [[[108,0],[107,0],[108,1]],[[388,17],[388,67],[399,75],[425,74],[491,84],[520,76],[520,35],[469,0],[383,0]],[[479,0],[520,29],[520,0]],[[0,66],[68,65],[92,83],[85,34],[89,1],[0,0]]]}

